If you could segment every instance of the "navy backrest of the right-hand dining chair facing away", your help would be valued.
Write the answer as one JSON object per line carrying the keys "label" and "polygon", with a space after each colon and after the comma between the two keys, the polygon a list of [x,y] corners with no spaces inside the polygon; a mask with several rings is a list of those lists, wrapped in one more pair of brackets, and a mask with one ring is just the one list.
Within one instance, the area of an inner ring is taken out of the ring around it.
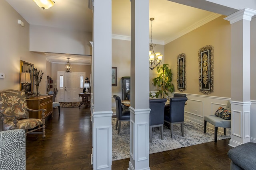
{"label": "navy backrest of the right-hand dining chair facing away", "polygon": [[187,100],[186,97],[170,98],[169,121],[171,123],[184,121],[184,107]]}

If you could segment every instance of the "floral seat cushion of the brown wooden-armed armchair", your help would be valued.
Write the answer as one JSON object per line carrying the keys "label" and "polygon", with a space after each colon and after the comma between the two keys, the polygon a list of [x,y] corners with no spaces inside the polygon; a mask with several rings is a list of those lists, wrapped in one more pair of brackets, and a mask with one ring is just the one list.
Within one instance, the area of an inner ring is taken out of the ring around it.
{"label": "floral seat cushion of the brown wooden-armed armchair", "polygon": [[[34,119],[34,118],[22,119],[22,120],[18,120],[17,129],[24,129],[24,130],[33,129],[38,125],[42,125],[42,124],[43,124],[42,119]],[[12,130],[12,129],[15,129],[13,121],[9,121],[4,125],[4,131]]]}

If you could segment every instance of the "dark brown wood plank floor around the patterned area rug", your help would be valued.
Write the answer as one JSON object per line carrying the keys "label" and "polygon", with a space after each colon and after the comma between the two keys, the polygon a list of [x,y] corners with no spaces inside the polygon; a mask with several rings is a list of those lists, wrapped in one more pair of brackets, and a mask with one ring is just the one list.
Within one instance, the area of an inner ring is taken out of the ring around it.
{"label": "dark brown wood plank floor around the patterned area rug", "polygon": [[[229,139],[150,154],[150,170],[228,170]],[[54,109],[47,120],[46,138],[28,134],[27,170],[92,170],[90,110],[78,107]],[[112,170],[127,170],[129,158],[112,162]]]}

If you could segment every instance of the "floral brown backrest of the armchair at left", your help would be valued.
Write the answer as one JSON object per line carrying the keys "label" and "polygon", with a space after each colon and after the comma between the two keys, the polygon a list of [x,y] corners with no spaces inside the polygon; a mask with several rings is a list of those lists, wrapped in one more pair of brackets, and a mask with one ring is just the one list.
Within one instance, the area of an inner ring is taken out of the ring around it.
{"label": "floral brown backrest of the armchair at left", "polygon": [[[26,94],[24,90],[5,90],[0,92],[1,113],[16,116],[17,119],[28,118]],[[1,114],[2,122],[5,124],[12,121],[13,117],[6,117]]]}

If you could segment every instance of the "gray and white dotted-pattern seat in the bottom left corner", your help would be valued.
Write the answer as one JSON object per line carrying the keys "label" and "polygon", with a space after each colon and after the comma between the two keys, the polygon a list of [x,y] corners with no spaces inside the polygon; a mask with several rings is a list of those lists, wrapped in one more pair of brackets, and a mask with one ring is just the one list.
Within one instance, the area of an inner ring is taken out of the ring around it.
{"label": "gray and white dotted-pattern seat in the bottom left corner", "polygon": [[0,131],[0,170],[26,170],[26,135],[23,129]]}

